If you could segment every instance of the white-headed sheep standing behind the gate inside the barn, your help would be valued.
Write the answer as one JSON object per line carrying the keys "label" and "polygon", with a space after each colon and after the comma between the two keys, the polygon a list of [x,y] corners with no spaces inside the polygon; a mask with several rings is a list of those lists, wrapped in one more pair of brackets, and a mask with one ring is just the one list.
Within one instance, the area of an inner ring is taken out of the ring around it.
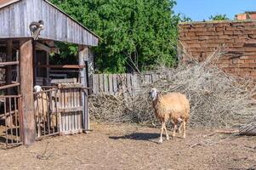
{"label": "white-headed sheep standing behind the gate inside the barn", "polygon": [[43,93],[40,86],[35,86],[34,91],[37,93],[34,105],[35,105],[35,115],[37,123],[37,137],[41,136],[41,125],[48,121],[48,95]]}

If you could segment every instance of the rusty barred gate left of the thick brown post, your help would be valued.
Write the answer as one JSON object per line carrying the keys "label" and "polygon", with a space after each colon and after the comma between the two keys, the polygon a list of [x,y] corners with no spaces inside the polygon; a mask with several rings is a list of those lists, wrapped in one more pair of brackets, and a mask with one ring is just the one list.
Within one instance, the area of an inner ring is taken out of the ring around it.
{"label": "rusty barred gate left of the thick brown post", "polygon": [[[21,96],[0,96],[0,142],[7,146],[22,144]],[[3,111],[3,112],[2,112]]]}

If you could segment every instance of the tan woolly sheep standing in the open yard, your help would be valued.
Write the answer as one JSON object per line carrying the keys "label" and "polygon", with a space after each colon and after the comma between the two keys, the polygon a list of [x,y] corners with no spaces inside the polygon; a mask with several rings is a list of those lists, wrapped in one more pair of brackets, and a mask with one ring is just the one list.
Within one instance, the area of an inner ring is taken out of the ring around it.
{"label": "tan woolly sheep standing in the open yard", "polygon": [[179,122],[182,122],[181,124],[183,124],[183,138],[185,139],[185,125],[188,122],[190,116],[190,103],[189,100],[186,99],[185,95],[180,93],[168,93],[162,95],[158,93],[156,88],[152,88],[150,92],[150,97],[153,100],[152,105],[155,110],[156,118],[162,122],[159,143],[162,143],[163,130],[165,130],[166,138],[167,140],[169,140],[166,127],[166,122],[168,122],[169,119],[171,120],[171,122],[174,123],[173,137],[175,137],[177,124]]}

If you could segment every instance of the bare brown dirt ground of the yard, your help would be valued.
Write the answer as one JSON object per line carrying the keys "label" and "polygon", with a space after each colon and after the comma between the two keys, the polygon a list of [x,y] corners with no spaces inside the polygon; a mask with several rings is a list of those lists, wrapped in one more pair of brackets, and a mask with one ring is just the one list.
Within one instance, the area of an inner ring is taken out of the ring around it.
{"label": "bare brown dirt ground of the yard", "polygon": [[0,169],[256,169],[255,137],[189,129],[186,139],[157,144],[157,128],[102,123],[92,128],[28,148],[0,149]]}

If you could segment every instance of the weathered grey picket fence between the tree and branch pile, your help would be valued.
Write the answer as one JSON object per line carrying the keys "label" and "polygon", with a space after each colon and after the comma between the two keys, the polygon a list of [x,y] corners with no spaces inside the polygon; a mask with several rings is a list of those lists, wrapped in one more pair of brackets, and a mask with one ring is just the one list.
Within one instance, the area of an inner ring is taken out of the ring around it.
{"label": "weathered grey picket fence between the tree and branch pile", "polygon": [[92,94],[117,95],[124,91],[129,95],[139,94],[140,87],[147,83],[156,82],[161,77],[161,73],[143,74],[94,74],[92,77]]}

